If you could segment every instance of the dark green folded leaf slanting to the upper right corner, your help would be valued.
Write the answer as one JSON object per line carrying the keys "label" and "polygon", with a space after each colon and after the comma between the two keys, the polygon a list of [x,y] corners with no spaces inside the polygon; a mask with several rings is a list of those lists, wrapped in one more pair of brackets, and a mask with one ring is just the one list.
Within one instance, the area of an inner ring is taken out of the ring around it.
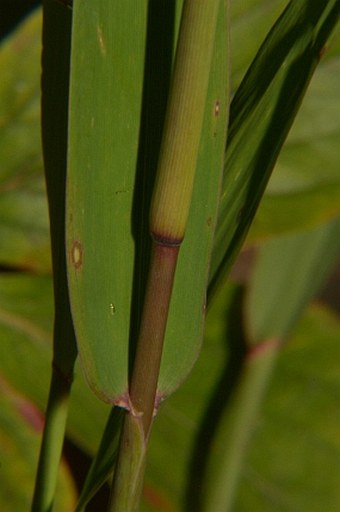
{"label": "dark green folded leaf slanting to the upper right corner", "polygon": [[290,2],[235,94],[211,291],[244,240],[339,10],[337,0]]}

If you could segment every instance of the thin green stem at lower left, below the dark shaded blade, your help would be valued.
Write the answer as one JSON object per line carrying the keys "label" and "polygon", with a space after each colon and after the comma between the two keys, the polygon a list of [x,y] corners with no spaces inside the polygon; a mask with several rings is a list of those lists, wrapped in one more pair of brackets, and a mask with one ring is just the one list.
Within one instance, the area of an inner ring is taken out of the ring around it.
{"label": "thin green stem at lower left, below the dark shaded blade", "polygon": [[53,507],[70,390],[71,382],[53,369],[32,512],[50,512]]}

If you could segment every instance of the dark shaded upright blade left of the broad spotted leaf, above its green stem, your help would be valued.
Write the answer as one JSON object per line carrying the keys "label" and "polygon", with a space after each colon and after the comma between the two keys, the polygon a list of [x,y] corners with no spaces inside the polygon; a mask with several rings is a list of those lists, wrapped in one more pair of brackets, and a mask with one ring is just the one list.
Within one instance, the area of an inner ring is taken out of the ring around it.
{"label": "dark shaded upright blade left of the broad spotted leaf, above its green stem", "polygon": [[72,381],[77,347],[66,276],[65,188],[71,10],[46,0],[43,16],[41,130],[48,196],[55,302],[53,362]]}

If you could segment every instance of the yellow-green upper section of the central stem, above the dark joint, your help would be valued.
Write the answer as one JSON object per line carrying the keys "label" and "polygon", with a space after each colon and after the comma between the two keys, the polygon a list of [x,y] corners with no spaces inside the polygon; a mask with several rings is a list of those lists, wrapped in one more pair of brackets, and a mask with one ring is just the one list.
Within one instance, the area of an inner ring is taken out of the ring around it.
{"label": "yellow-green upper section of the central stem, above the dark joint", "polygon": [[170,88],[151,231],[181,241],[191,204],[219,0],[185,0]]}

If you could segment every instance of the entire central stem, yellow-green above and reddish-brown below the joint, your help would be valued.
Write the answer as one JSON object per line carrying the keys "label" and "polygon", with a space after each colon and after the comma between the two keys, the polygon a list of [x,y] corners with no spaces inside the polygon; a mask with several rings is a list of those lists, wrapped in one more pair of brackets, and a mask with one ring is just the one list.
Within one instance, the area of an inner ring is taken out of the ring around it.
{"label": "entire central stem, yellow-green above and reddish-brown below the joint", "polygon": [[176,263],[191,203],[219,2],[185,0],[183,5],[150,213],[153,250],[111,512],[136,510],[142,490]]}

